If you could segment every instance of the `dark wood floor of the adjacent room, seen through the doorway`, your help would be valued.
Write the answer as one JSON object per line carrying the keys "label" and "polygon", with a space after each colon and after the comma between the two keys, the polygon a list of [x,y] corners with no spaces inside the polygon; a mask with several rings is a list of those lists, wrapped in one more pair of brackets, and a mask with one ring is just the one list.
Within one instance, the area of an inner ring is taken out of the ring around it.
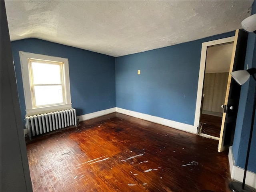
{"label": "dark wood floor of the adjacent room, seen through the doorway", "polygon": [[202,114],[200,121],[203,123],[202,133],[214,137],[220,137],[222,117]]}

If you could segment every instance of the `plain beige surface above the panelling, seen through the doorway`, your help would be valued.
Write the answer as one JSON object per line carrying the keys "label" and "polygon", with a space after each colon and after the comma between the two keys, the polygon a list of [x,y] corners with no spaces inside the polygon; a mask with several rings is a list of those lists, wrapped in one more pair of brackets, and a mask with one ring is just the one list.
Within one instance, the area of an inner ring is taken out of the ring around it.
{"label": "plain beige surface above the panelling, seen through the doorway", "polygon": [[207,48],[206,73],[229,72],[234,43]]}

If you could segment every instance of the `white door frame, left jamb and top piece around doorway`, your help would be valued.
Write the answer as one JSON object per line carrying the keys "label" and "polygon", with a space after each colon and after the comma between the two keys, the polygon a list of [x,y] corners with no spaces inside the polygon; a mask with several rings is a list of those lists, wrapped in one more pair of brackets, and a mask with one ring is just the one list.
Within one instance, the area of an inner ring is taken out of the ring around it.
{"label": "white door frame, left jamb and top piece around doorway", "polygon": [[205,65],[206,65],[206,53],[207,48],[214,45],[226,44],[234,42],[235,37],[228,37],[213,41],[208,41],[202,43],[202,51],[201,51],[201,60],[200,60],[200,70],[198,77],[198,88],[197,88],[197,96],[196,96],[196,112],[195,112],[195,120],[194,126],[197,127],[197,134],[200,130],[200,113],[201,113],[201,104],[202,104],[202,95],[203,95],[203,87],[204,87],[204,74],[205,74]]}

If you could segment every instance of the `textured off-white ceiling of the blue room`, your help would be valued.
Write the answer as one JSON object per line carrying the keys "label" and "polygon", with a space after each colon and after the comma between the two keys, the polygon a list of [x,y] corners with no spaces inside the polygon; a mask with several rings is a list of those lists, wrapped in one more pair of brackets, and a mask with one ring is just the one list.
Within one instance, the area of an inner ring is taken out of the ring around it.
{"label": "textured off-white ceiling of the blue room", "polygon": [[251,1],[6,1],[12,41],[39,38],[111,56],[241,28]]}

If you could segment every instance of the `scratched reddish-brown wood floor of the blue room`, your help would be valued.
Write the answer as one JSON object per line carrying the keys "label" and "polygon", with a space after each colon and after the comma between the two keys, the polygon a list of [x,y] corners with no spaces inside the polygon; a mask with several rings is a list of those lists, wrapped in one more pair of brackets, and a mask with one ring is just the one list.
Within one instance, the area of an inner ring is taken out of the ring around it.
{"label": "scratched reddish-brown wood floor of the blue room", "polygon": [[27,143],[34,192],[230,191],[218,141],[123,114]]}

